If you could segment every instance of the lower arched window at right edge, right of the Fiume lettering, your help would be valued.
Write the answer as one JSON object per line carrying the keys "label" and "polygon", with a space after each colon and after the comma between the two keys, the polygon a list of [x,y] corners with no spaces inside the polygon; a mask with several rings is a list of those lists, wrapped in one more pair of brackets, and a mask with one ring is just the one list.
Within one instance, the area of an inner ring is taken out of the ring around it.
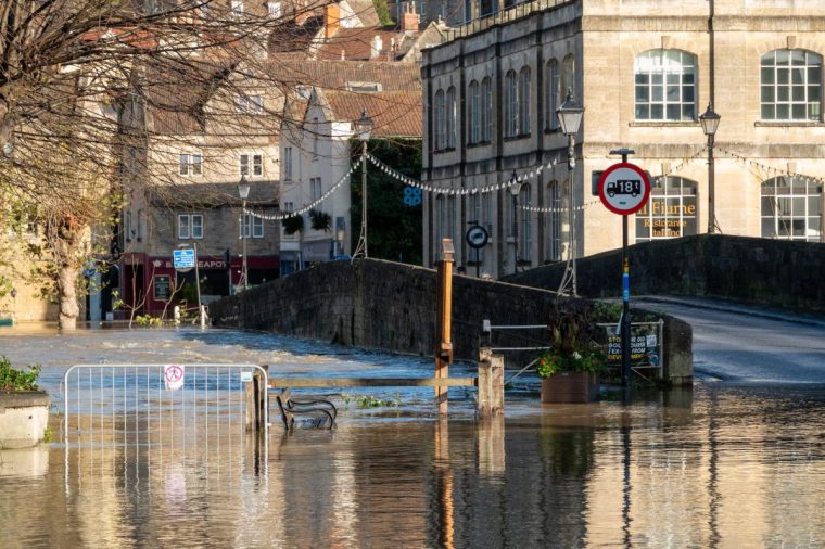
{"label": "lower arched window at right edge, right of the Fiume lettering", "polygon": [[775,177],[762,183],[762,237],[818,242],[822,182]]}

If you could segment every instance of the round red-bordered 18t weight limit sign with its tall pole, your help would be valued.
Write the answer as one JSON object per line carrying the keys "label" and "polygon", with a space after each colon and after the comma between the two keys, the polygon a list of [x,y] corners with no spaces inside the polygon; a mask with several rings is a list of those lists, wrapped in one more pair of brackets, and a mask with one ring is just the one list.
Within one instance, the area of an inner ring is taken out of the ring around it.
{"label": "round red-bordered 18t weight limit sign with its tall pole", "polygon": [[622,385],[631,385],[631,266],[627,257],[627,216],[635,214],[650,197],[651,181],[647,173],[627,162],[630,149],[610,151],[622,162],[606,169],[598,181],[599,199],[610,212],[622,216]]}

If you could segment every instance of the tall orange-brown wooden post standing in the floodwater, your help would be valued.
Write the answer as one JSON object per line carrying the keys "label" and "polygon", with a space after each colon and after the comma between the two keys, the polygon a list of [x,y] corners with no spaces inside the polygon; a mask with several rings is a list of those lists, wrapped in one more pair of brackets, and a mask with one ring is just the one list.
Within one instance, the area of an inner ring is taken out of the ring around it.
{"label": "tall orange-brown wooden post standing in the floodwater", "polygon": [[[453,264],[455,263],[455,248],[453,239],[444,239],[441,243],[441,260],[435,281],[437,296],[437,311],[435,317],[435,334],[437,346],[435,347],[435,378],[448,378],[449,365],[453,362],[453,324],[450,312],[453,309]],[[435,387],[435,401],[439,404],[439,413],[447,413],[448,387]]]}

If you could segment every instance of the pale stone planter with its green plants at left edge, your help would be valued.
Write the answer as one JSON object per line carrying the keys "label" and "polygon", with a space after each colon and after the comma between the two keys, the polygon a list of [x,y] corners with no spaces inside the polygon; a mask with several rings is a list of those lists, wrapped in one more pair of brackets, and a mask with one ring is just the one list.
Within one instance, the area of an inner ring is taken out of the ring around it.
{"label": "pale stone planter with its green plants at left edge", "polygon": [[49,395],[37,386],[40,367],[12,368],[0,357],[0,449],[26,448],[49,437]]}

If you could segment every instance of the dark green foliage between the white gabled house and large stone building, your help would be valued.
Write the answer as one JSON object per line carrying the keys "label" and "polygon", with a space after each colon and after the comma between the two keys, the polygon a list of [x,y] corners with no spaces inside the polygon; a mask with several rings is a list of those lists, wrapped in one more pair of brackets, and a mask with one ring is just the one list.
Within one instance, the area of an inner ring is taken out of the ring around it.
{"label": "dark green foliage between the white gabled house and large stone building", "polygon": [[[360,155],[361,143],[353,142],[353,157]],[[412,139],[372,140],[369,152],[405,176],[421,177],[421,141]],[[361,222],[361,167],[352,175],[352,250],[358,242]],[[421,265],[421,206],[404,204],[406,186],[375,166],[367,168],[367,225],[369,256],[412,265]]]}

